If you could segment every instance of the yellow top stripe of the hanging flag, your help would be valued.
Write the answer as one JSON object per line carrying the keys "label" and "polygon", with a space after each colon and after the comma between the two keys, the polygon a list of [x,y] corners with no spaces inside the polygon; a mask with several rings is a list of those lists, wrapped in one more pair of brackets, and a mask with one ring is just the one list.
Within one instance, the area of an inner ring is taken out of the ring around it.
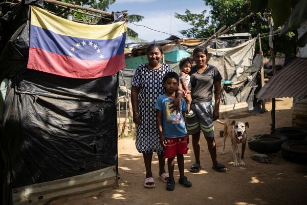
{"label": "yellow top stripe of the hanging flag", "polygon": [[31,9],[31,25],[48,29],[60,35],[97,40],[114,39],[127,31],[125,22],[109,25],[85,25],[58,17],[35,6],[32,6]]}

